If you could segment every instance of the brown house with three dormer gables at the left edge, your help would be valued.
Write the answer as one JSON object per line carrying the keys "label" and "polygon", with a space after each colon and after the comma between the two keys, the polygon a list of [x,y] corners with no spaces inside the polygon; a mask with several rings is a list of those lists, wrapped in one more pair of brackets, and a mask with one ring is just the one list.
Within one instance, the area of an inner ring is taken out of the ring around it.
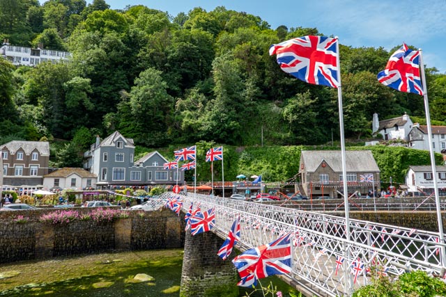
{"label": "brown house with three dormer gables at the left edge", "polygon": [[3,184],[10,186],[42,185],[48,173],[47,141],[10,141],[0,146],[3,161]]}

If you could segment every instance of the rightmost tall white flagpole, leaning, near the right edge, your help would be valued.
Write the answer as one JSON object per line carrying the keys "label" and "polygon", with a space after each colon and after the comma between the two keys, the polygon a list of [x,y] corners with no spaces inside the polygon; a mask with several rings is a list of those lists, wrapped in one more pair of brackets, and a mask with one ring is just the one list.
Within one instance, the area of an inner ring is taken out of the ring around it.
{"label": "rightmost tall white flagpole, leaning, near the right edge", "polygon": [[[433,192],[435,193],[435,204],[437,209],[437,220],[438,220],[438,237],[440,239],[440,243],[445,243],[445,234],[443,234],[443,220],[441,218],[441,209],[440,209],[440,195],[438,193],[438,186],[437,186],[437,170],[436,170],[436,163],[435,163],[435,157],[433,154],[433,146],[432,146],[432,128],[431,128],[431,115],[429,113],[429,100],[427,99],[427,86],[426,86],[426,77],[424,75],[424,63],[423,63],[423,55],[422,55],[422,49],[419,49],[420,51],[420,68],[421,68],[421,79],[422,79],[422,86],[423,86],[423,97],[424,97],[424,109],[426,110],[426,123],[427,123],[427,137],[429,139],[429,152],[431,153],[431,166],[432,166],[432,179],[433,179]],[[445,246],[440,247],[441,254],[441,264],[443,266],[446,265],[446,253],[445,253]],[[445,275],[445,268],[442,268],[441,271],[442,275],[440,275],[441,278],[443,278],[443,275]]]}

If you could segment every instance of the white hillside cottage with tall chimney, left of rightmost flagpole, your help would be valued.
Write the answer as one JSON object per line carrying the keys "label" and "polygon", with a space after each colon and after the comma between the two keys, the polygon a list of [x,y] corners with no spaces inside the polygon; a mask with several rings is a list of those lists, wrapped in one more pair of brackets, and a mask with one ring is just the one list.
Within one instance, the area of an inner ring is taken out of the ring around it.
{"label": "white hillside cottage with tall chimney, left of rightmost flagpole", "polygon": [[405,113],[401,117],[388,120],[378,120],[378,113],[374,113],[372,122],[372,134],[381,134],[385,141],[392,139],[407,140],[413,127],[413,122]]}

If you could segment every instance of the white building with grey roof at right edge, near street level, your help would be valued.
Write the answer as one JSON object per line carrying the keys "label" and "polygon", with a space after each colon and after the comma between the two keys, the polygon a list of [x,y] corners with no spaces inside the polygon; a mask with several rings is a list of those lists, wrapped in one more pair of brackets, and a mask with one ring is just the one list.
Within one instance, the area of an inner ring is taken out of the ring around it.
{"label": "white building with grey roof at right edge, near street level", "polygon": [[[446,166],[436,166],[437,185],[440,196],[446,196]],[[431,166],[410,166],[406,174],[408,191],[433,193],[433,176]]]}

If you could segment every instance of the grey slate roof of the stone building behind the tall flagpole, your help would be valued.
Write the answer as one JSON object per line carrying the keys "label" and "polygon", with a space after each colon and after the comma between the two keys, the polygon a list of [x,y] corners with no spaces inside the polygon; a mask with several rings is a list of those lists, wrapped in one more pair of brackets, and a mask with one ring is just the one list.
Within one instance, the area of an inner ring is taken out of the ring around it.
{"label": "grey slate roof of the stone building behind the tall flagpole", "polygon": [[[301,152],[307,172],[315,172],[325,161],[334,172],[342,172],[340,150],[308,150]],[[347,172],[380,172],[373,154],[369,150],[346,151]]]}

